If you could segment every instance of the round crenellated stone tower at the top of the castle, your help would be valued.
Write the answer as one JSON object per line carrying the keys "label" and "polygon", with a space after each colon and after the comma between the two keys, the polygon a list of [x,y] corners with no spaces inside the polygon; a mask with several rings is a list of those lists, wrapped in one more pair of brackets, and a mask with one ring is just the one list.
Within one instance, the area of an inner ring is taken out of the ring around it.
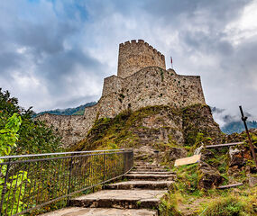
{"label": "round crenellated stone tower at the top of the castle", "polygon": [[143,67],[166,69],[165,57],[144,40],[131,40],[120,44],[117,76],[125,78]]}

